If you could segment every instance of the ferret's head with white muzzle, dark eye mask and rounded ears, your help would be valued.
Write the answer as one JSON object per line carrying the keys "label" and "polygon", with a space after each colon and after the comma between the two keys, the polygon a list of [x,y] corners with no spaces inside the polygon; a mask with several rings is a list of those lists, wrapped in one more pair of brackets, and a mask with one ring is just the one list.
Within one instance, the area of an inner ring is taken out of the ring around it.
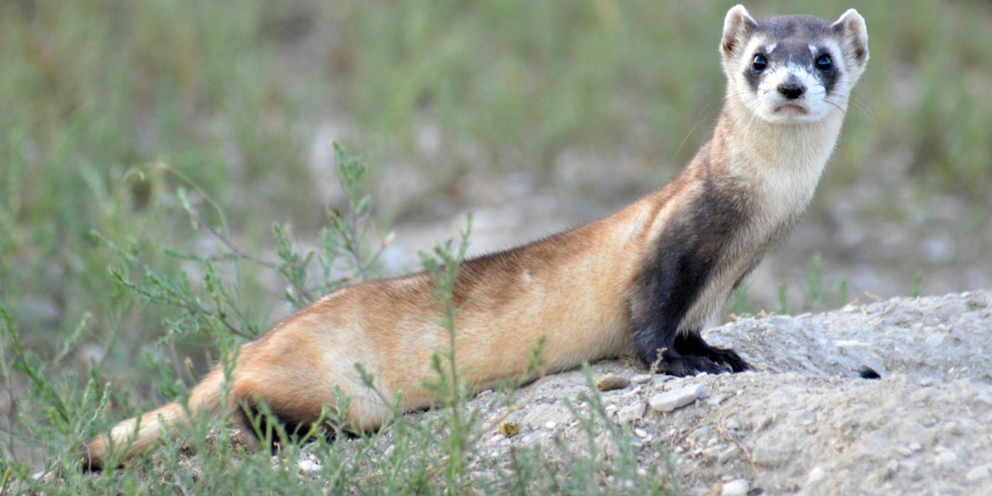
{"label": "ferret's head with white muzzle, dark eye mask and rounded ears", "polygon": [[854,9],[829,24],[807,16],[756,21],[737,5],[720,42],[727,97],[777,124],[817,122],[847,109],[868,62],[868,31]]}

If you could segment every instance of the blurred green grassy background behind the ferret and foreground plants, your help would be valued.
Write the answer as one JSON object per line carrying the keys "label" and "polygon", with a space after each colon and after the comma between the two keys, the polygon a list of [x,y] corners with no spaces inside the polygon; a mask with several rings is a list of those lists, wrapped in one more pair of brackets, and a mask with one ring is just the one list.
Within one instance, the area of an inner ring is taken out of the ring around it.
{"label": "blurred green grassy background behind the ferret and foreground plants", "polygon": [[[377,223],[396,233],[386,273],[415,267],[415,249],[468,210],[476,253],[606,215],[672,179],[706,139],[731,5],[6,0],[0,303],[45,356],[89,312],[66,367],[98,360],[121,387],[141,383],[137,357],[168,354],[154,343],[175,310],[121,292],[107,270],[118,258],[91,230],[186,270],[163,249],[217,246],[177,197],[195,185],[246,249],[274,250],[274,221],[312,242],[341,201],[331,140],[372,165]],[[992,6],[748,4],[830,20],[851,6],[871,62],[843,136],[806,220],[735,309],[805,298],[810,260],[824,288],[861,301],[992,281]],[[285,314],[284,288],[242,277],[247,308],[270,323]]]}

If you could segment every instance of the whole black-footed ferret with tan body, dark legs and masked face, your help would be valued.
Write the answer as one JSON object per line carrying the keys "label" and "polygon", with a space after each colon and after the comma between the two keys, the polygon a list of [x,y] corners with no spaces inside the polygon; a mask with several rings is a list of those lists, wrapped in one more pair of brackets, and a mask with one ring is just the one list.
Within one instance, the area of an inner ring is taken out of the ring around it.
{"label": "whole black-footed ferret with tan body, dark legs and masked face", "polygon": [[[469,387],[525,374],[541,338],[547,372],[631,352],[680,376],[749,368],[699,332],[806,210],[868,60],[867,31],[853,9],[833,24],[758,22],[738,5],[725,18],[720,53],[722,112],[675,181],[612,216],[463,263],[455,357]],[[432,355],[448,346],[434,298],[427,274],[330,294],[242,346],[226,398],[214,370],[188,409],[226,404],[247,428],[244,410],[264,401],[281,422],[304,426],[334,408],[337,387],[351,398],[349,429],[375,429],[390,407],[363,385],[356,364],[386,398],[399,394],[403,411],[430,407]],[[101,468],[111,443],[130,457],[185,415],[172,403],[122,422],[112,442],[89,442],[83,466]]]}

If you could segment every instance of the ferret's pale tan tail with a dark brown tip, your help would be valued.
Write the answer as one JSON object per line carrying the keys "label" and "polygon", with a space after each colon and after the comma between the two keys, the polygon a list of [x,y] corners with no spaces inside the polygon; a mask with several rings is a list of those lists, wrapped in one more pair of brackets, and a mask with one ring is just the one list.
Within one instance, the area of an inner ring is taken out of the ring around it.
{"label": "ferret's pale tan tail with a dark brown tip", "polygon": [[[220,405],[220,389],[224,381],[223,370],[217,367],[207,374],[189,394],[189,413],[217,412]],[[141,417],[129,419],[114,426],[110,434],[99,434],[86,443],[82,456],[84,471],[102,470],[108,461],[111,449],[120,452],[123,462],[152,445],[165,433],[169,426],[186,422],[186,410],[173,402]]]}

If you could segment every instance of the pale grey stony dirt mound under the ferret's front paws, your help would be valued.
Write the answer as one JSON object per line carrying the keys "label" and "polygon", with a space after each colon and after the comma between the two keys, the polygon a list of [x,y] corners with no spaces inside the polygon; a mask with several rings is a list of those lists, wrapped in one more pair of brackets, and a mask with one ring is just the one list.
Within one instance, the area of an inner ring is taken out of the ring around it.
{"label": "pale grey stony dirt mound under the ferret's front paws", "polygon": [[[592,367],[631,380],[602,393],[607,411],[645,461],[657,441],[678,453],[685,494],[992,494],[992,294],[744,318],[704,336],[757,370],[676,379],[629,361]],[[862,379],[866,366],[881,379]],[[580,371],[546,378],[510,416],[520,433],[494,432],[483,455],[581,439],[562,399],[585,389]]]}

